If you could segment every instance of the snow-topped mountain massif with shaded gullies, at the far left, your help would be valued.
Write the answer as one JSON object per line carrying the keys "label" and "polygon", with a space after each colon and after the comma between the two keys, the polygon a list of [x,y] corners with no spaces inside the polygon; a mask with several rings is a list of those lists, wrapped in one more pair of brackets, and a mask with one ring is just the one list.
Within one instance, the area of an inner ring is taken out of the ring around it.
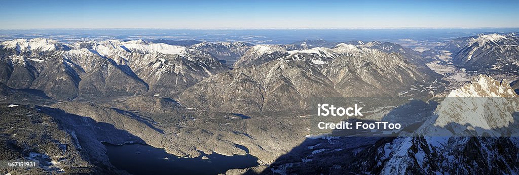
{"label": "snow-topped mountain massif with shaded gullies, at the far left", "polygon": [[5,41],[2,46],[2,83],[15,89],[42,90],[60,100],[144,93],[173,96],[228,70],[207,52],[143,40],[85,41],[67,46],[36,38]]}

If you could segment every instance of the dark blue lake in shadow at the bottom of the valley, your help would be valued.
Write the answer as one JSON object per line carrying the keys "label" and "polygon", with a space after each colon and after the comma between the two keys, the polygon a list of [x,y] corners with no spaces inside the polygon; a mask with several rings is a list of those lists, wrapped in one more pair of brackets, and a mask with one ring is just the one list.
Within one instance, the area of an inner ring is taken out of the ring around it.
{"label": "dark blue lake in shadow at the bottom of the valley", "polygon": [[[196,158],[179,158],[164,149],[146,144],[103,144],[110,163],[132,174],[218,174],[228,169],[258,165],[257,158],[250,154],[225,156],[202,153]],[[209,159],[202,159],[202,156]]]}

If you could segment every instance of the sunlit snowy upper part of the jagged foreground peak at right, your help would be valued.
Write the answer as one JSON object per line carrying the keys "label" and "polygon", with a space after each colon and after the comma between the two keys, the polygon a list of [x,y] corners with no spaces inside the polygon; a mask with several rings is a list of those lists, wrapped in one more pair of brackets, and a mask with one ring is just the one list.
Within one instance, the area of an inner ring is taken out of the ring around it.
{"label": "sunlit snowy upper part of the jagged foreground peak at right", "polygon": [[[464,130],[475,130],[476,134],[487,133],[499,136],[495,129],[509,127],[514,123],[514,113],[519,111],[519,97],[506,81],[496,81],[489,76],[480,75],[471,83],[456,89],[442,101],[436,109],[438,115],[424,124],[436,127],[425,135],[456,135]],[[444,127],[450,129],[450,134]]]}

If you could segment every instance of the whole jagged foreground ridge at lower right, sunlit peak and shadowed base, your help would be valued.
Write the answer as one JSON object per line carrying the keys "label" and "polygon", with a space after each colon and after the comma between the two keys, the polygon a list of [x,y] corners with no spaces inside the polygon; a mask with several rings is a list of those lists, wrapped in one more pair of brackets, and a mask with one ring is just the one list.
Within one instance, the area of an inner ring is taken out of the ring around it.
{"label": "whole jagged foreground ridge at lower right, sunlit peak and shadowed base", "polygon": [[[510,111],[518,111],[519,103],[510,90],[506,81],[481,75],[452,91],[417,137],[397,137],[376,149],[380,173],[517,173],[519,140],[513,137],[518,129],[512,116],[517,113]],[[481,112],[490,107],[494,111]],[[512,137],[481,137],[507,134]]]}

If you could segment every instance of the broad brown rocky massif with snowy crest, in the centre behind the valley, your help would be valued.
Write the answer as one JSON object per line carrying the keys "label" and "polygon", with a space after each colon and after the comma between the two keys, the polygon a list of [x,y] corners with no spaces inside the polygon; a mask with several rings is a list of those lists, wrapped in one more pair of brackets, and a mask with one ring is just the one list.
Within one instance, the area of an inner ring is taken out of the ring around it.
{"label": "broad brown rocky massif with snowy crest, in the centre behind the valley", "polygon": [[411,86],[427,93],[426,87],[436,79],[432,70],[420,69],[399,53],[345,43],[332,49],[268,47],[252,53],[262,49],[260,57],[237,62],[253,65],[238,66],[188,88],[179,97],[181,103],[221,112],[280,112],[304,109],[310,98],[324,96],[398,96]]}

